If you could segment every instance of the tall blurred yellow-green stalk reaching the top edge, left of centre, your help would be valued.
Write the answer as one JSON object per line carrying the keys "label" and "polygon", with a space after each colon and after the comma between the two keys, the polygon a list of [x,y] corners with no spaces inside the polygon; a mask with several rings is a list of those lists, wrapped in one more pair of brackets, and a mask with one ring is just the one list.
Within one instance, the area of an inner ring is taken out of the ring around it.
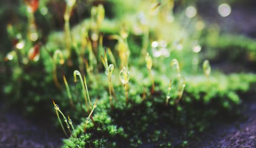
{"label": "tall blurred yellow-green stalk reaching the top edge, left of centre", "polygon": [[66,0],[67,6],[66,11],[64,14],[64,20],[65,20],[65,41],[66,41],[66,50],[68,51],[68,57],[71,56],[71,31],[70,31],[70,15],[72,12],[73,7],[75,6],[76,0]]}

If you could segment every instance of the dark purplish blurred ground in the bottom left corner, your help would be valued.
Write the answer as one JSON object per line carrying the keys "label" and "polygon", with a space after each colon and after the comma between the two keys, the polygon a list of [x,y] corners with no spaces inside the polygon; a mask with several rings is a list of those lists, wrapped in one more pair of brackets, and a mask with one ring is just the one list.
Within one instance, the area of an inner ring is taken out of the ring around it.
{"label": "dark purplish blurred ground in the bottom left corner", "polygon": [[26,119],[0,103],[0,147],[60,147],[65,138],[47,120]]}

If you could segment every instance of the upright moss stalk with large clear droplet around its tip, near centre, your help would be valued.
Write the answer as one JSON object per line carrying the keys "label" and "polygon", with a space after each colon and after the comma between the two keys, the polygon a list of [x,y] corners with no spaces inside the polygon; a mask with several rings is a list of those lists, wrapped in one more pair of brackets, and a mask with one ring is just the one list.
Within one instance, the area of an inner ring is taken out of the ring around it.
{"label": "upright moss stalk with large clear droplet around its tip, near centre", "polygon": [[126,104],[128,103],[128,86],[127,83],[130,80],[130,72],[126,67],[123,67],[123,69],[120,71],[119,78],[121,82],[123,83],[124,86],[124,91],[125,91],[125,100]]}

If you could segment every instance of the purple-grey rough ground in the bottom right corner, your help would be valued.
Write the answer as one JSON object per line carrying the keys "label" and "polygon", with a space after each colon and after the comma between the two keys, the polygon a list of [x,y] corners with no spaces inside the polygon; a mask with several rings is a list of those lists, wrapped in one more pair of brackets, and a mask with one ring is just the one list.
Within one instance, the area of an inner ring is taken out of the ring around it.
{"label": "purple-grey rough ground in the bottom right corner", "polygon": [[198,135],[200,141],[188,140],[188,147],[256,147],[256,98],[253,96],[244,100],[240,120],[212,123],[210,130]]}

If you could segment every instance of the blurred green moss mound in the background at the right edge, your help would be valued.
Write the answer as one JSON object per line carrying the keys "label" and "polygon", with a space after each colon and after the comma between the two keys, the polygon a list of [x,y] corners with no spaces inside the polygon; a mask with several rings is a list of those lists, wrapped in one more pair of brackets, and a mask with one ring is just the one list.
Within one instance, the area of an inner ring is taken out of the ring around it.
{"label": "blurred green moss mound in the background at the right edge", "polygon": [[206,48],[206,56],[211,60],[224,60],[240,65],[256,62],[255,40],[245,36],[226,34],[219,36],[217,39],[217,44],[213,45],[210,44],[211,40],[208,39],[207,35],[206,38],[200,40],[201,44]]}

